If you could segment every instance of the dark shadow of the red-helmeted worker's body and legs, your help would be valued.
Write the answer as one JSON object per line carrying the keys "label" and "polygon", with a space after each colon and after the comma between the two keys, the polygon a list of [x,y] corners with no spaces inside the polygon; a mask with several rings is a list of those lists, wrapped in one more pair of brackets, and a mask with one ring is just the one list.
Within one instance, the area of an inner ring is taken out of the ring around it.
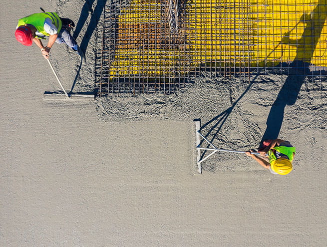
{"label": "dark shadow of the red-helmeted worker's body and legs", "polygon": [[80,48],[82,49],[82,51],[84,53],[86,52],[86,48],[87,48],[88,42],[92,36],[92,33],[99,22],[99,19],[101,17],[101,13],[102,13],[102,10],[104,9],[106,1],[107,0],[97,0],[96,5],[93,9],[92,4],[93,4],[94,0],[85,0],[85,3],[82,7],[81,14],[79,16],[78,22],[76,24],[76,27],[75,27],[75,30],[73,33],[73,37],[75,39],[77,38],[82,27],[85,24],[85,21],[86,21],[88,15],[91,14],[90,22],[87,26],[85,34],[80,43]]}

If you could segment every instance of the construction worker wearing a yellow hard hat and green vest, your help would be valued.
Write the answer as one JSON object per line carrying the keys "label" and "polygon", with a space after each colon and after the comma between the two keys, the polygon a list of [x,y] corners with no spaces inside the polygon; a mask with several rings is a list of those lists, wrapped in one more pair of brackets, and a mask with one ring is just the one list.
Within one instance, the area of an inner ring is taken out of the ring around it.
{"label": "construction worker wearing a yellow hard hat and green vest", "polygon": [[275,139],[263,142],[263,147],[258,150],[260,156],[252,154],[255,150],[245,152],[249,157],[256,160],[261,166],[269,169],[273,174],[287,175],[292,169],[292,161],[295,156],[295,147],[290,142]]}

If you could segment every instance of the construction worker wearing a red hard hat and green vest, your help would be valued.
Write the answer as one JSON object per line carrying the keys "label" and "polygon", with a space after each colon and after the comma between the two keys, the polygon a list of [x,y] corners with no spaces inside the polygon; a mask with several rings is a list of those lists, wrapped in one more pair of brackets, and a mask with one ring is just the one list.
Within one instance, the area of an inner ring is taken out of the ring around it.
{"label": "construction worker wearing a red hard hat and green vest", "polygon": [[[72,20],[60,18],[55,12],[34,13],[18,20],[15,37],[23,45],[30,46],[34,42],[45,59],[48,59],[50,49],[56,42],[65,43],[85,61],[83,51],[66,29],[68,24],[74,26]],[[41,39],[46,37],[49,39],[44,46]]]}

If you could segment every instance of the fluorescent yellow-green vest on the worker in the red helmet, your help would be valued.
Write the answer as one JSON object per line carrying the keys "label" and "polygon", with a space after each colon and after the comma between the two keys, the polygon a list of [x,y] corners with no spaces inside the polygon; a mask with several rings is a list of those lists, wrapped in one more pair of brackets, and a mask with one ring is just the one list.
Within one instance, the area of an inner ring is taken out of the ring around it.
{"label": "fluorescent yellow-green vest on the worker in the red helmet", "polygon": [[31,24],[37,29],[38,32],[42,33],[45,36],[49,36],[50,34],[44,31],[45,18],[50,18],[52,20],[52,23],[58,29],[58,32],[60,31],[61,19],[58,14],[54,12],[35,13],[28,15],[18,20],[18,26]]}

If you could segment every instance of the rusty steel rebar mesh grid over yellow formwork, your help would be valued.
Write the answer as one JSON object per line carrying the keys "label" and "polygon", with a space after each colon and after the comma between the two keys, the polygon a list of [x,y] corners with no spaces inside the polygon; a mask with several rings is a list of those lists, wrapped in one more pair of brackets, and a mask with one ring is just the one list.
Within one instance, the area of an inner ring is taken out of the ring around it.
{"label": "rusty steel rebar mesh grid over yellow formwork", "polygon": [[[178,10],[178,11],[177,11]],[[105,6],[98,95],[218,76],[327,74],[327,0],[123,0]]]}

